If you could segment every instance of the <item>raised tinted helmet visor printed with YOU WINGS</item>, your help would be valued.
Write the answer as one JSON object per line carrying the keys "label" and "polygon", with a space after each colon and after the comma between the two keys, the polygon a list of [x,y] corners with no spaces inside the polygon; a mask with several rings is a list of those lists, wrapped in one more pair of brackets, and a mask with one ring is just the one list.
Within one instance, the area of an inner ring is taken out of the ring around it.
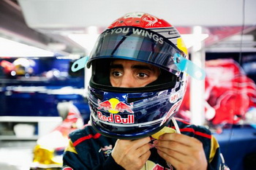
{"label": "raised tinted helmet visor printed with YOU WINGS", "polygon": [[176,45],[154,31],[118,27],[108,29],[99,36],[87,66],[97,58],[122,58],[151,63],[176,74],[179,71],[173,61],[176,54],[185,58]]}

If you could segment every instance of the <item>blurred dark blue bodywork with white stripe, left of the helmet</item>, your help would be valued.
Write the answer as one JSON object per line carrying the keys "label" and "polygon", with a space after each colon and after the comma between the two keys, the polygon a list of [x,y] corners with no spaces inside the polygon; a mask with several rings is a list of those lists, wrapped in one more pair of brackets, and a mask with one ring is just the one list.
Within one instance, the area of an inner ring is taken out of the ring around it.
{"label": "blurred dark blue bodywork with white stripe, left of the helmet", "polygon": [[[16,59],[0,58],[0,62],[12,63]],[[67,58],[28,59],[34,61],[29,77],[0,74],[0,116],[59,116],[57,104],[72,101],[88,122],[90,112],[86,98],[81,93],[72,93],[84,89],[83,69],[72,72],[74,61]],[[58,75],[52,74],[55,71]]]}

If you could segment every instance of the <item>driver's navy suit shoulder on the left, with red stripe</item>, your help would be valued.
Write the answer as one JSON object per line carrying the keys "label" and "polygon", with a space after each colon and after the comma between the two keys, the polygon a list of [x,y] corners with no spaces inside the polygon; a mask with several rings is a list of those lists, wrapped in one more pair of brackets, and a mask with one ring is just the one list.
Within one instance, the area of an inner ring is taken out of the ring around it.
{"label": "driver's navy suit shoulder on the left, with red stripe", "polygon": [[94,169],[110,156],[115,141],[97,133],[91,125],[69,134],[64,165],[73,169]]}

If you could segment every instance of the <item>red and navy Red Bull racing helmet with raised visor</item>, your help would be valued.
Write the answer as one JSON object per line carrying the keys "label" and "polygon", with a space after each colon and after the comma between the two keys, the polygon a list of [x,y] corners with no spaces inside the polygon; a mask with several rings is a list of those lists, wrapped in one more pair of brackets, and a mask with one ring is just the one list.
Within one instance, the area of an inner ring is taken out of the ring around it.
{"label": "red and navy Red Bull racing helmet with raised visor", "polygon": [[[181,35],[167,21],[143,12],[128,13],[99,35],[87,67],[92,66],[88,99],[91,125],[116,139],[139,139],[159,131],[176,114],[187,74],[177,58],[187,58]],[[141,88],[110,84],[110,63],[127,59],[159,67],[157,80]]]}

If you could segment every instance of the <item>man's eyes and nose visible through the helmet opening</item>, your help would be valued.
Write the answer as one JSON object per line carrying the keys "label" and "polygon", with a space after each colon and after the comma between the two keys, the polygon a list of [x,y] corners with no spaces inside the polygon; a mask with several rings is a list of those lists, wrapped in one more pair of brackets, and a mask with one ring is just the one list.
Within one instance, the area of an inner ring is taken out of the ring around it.
{"label": "man's eyes and nose visible through the helmet opening", "polygon": [[149,63],[114,60],[110,64],[110,82],[118,88],[140,88],[148,85],[159,76],[159,69]]}

